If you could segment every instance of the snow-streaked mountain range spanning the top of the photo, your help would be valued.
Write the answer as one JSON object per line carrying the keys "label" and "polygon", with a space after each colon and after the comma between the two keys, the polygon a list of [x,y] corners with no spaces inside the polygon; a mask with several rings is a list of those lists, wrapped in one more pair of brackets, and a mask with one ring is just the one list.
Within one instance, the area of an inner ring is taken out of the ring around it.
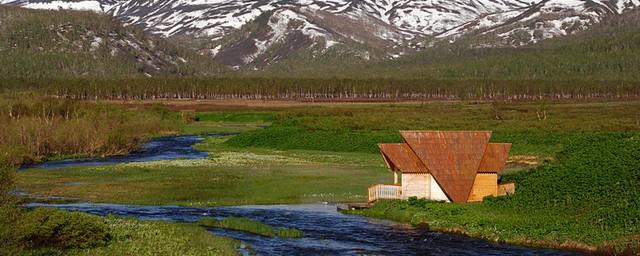
{"label": "snow-streaked mountain range spanning the top of the photo", "polygon": [[290,56],[393,58],[434,42],[518,46],[589,28],[640,0],[0,0],[109,13],[230,66]]}

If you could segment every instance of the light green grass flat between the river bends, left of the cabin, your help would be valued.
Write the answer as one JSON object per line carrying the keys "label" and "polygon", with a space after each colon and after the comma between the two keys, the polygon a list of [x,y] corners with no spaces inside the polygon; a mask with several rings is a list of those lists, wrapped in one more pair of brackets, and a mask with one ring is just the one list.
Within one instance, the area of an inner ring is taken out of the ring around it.
{"label": "light green grass flat between the river bends, left of the cabin", "polygon": [[370,184],[390,177],[377,155],[234,149],[224,140],[198,145],[209,151],[205,160],[30,170],[18,175],[18,189],[92,202],[204,207],[362,201]]}

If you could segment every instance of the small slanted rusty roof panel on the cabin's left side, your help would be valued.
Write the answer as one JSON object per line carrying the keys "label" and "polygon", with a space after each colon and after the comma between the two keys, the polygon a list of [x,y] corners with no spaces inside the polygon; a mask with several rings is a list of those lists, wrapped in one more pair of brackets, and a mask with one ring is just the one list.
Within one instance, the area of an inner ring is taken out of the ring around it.
{"label": "small slanted rusty roof panel on the cabin's left side", "polygon": [[405,173],[426,173],[427,168],[406,143],[378,144],[389,169]]}

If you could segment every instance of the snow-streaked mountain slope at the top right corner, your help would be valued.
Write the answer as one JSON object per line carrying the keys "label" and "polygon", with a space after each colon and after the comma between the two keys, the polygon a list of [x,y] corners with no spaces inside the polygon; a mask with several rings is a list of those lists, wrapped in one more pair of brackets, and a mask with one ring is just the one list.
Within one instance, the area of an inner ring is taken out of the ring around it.
{"label": "snow-streaked mountain slope at the top right corner", "polygon": [[587,30],[640,6],[637,0],[544,0],[530,8],[482,16],[438,35],[475,38],[476,47],[522,46]]}

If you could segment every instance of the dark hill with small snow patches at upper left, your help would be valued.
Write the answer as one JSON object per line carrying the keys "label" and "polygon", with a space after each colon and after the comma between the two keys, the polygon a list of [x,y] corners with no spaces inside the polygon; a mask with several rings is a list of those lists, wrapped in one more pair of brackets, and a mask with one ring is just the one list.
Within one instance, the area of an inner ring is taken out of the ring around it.
{"label": "dark hill with small snow patches at upper left", "polygon": [[223,69],[110,16],[0,6],[3,78],[193,75]]}

